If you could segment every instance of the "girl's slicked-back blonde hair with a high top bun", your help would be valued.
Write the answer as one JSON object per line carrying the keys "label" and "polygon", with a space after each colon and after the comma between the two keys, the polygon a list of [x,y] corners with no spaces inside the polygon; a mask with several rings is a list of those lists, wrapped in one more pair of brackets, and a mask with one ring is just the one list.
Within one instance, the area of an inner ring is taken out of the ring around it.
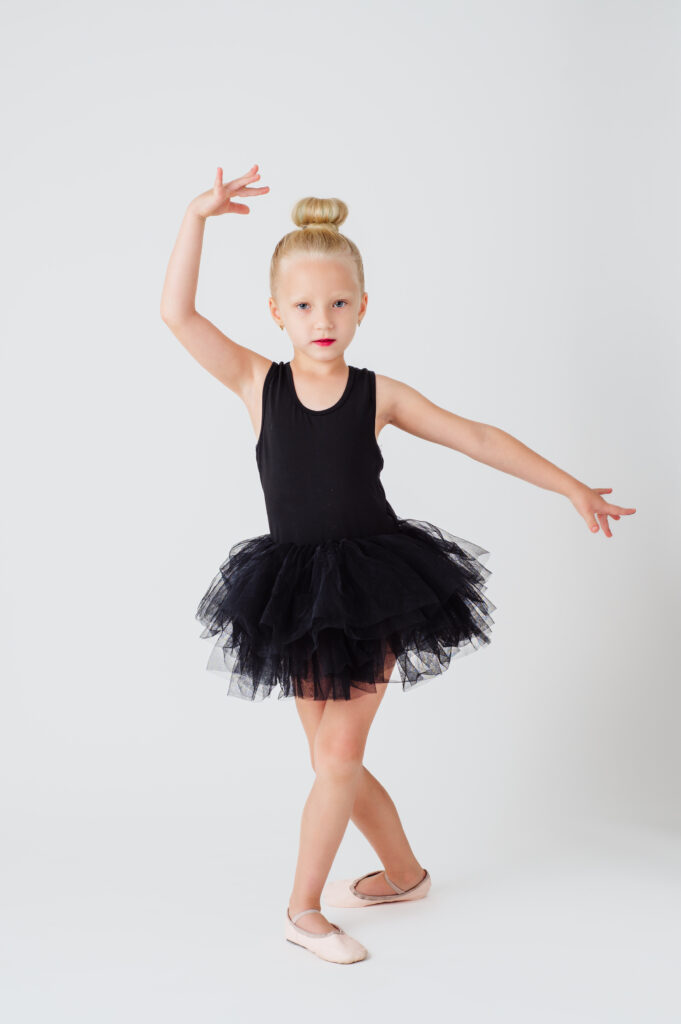
{"label": "girl's slicked-back blonde hair with a high top bun", "polygon": [[291,219],[296,228],[276,243],[269,264],[270,295],[274,295],[281,261],[287,256],[298,254],[351,259],[357,273],[360,294],[364,295],[365,268],[359,250],[351,239],[338,230],[347,213],[347,206],[340,199],[315,199],[308,196],[298,200],[291,211]]}

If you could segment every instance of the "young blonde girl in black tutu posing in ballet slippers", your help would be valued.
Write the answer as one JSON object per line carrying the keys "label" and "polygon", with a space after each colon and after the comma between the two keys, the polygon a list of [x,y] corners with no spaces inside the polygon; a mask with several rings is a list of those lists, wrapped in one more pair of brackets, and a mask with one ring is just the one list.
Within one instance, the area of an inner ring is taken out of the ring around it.
{"label": "young blonde girl in black tutu posing in ballet slippers", "polygon": [[[636,510],[606,502],[497,427],[466,420],[419,391],[350,366],[367,312],[361,257],[339,231],[340,200],[303,199],[278,244],[269,308],[294,356],[271,360],[225,337],[195,308],[206,219],[247,214],[233,197],[261,196],[258,165],[189,203],[163,290],[164,322],[199,362],[245,402],[257,443],[269,532],[243,540],[197,611],[215,644],[208,668],[231,695],[294,696],[315,781],[305,804],[286,938],[327,961],[367,949],[321,910],[422,899],[420,864],[387,792],[363,765],[388,683],[411,689],[453,657],[490,642],[488,552],[441,527],[396,515],[380,481],[387,425],[564,495],[591,530]],[[384,869],[325,887],[349,820]],[[304,925],[299,925],[305,915]]]}

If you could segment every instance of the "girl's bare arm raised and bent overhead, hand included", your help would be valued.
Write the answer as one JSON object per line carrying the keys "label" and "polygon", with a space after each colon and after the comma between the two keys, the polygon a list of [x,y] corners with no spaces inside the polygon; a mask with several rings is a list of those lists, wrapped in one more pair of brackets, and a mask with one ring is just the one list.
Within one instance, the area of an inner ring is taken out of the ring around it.
{"label": "girl's bare arm raised and bent overhead, hand included", "polygon": [[213,187],[191,200],[170,256],[161,296],[161,317],[177,340],[213,377],[245,400],[254,378],[269,359],[222,334],[197,312],[196,298],[206,219],[222,213],[250,213],[248,206],[233,203],[232,197],[269,191],[268,185],[247,187],[260,177],[257,170],[254,164],[246,174],[223,184],[222,168],[218,167]]}

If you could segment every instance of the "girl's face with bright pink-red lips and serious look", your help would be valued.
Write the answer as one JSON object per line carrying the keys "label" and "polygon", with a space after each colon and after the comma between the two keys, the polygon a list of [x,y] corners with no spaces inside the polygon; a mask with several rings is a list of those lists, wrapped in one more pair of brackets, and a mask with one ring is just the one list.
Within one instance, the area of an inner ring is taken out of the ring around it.
{"label": "girl's face with bright pink-red lips and serious look", "polygon": [[[312,359],[333,361],[352,341],[369,296],[360,294],[350,260],[295,256],[280,264],[276,298],[269,299],[269,309],[293,347]],[[321,338],[334,342],[315,344]]]}

